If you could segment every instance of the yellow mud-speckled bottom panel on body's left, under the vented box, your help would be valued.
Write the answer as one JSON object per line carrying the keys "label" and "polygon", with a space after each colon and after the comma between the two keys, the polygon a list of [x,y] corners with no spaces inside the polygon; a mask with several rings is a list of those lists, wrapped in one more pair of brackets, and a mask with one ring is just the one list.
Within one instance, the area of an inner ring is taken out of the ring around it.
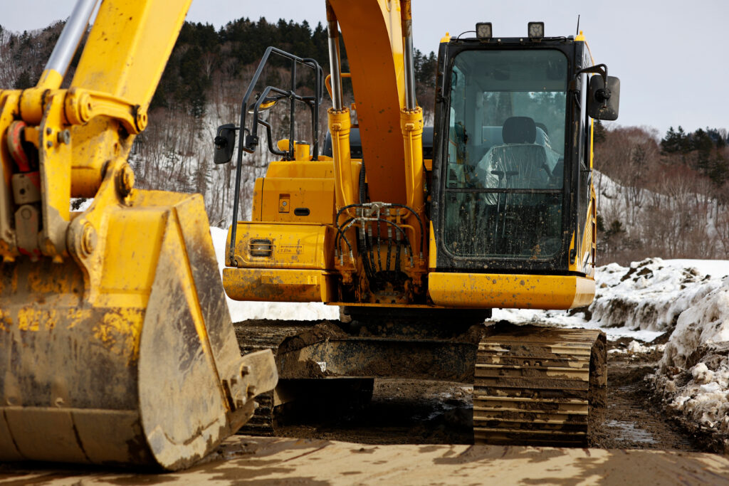
{"label": "yellow mud-speckled bottom panel on body's left, under the vented box", "polygon": [[330,302],[336,277],[324,270],[225,268],[223,286],[234,300]]}

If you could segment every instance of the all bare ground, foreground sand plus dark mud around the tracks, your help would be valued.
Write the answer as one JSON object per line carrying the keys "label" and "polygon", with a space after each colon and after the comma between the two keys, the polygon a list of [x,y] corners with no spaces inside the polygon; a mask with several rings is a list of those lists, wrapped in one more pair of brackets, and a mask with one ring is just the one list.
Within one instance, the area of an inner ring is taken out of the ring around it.
{"label": "all bare ground, foreground sand plus dark mud around the tracks", "polygon": [[610,356],[589,449],[472,445],[471,387],[377,380],[369,404],[322,408],[281,426],[283,437],[233,436],[187,471],[1,464],[0,485],[729,485],[729,456],[697,452],[701,442],[651,404],[642,378],[653,369],[655,356]]}

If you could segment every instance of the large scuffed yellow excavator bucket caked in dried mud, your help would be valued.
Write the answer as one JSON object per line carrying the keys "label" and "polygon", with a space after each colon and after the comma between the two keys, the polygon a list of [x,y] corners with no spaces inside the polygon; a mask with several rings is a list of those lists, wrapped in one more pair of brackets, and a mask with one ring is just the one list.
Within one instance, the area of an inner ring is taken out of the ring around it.
{"label": "large scuffed yellow excavator bucket caked in dried mud", "polygon": [[102,283],[75,262],[1,267],[0,460],[180,469],[273,389],[241,358],[199,196],[135,192],[108,213]]}

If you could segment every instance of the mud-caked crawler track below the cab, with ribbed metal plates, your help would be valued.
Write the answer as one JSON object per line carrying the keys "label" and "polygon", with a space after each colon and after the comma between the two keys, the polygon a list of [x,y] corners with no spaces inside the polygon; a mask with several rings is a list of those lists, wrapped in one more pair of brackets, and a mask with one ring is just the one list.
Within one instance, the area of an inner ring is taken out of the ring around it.
{"label": "mud-caked crawler track below the cab, with ribbed metal plates", "polygon": [[478,345],[474,441],[585,446],[590,413],[604,404],[604,334],[530,327]]}

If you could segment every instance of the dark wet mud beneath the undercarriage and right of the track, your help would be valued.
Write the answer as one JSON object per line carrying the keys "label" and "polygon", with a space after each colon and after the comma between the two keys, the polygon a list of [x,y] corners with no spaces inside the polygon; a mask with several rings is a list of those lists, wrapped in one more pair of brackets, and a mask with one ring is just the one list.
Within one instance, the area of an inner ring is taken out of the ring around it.
{"label": "dark wet mud beneath the undercarriage and right of the track", "polygon": [[[623,340],[609,349],[624,348]],[[660,355],[610,353],[607,410],[593,426],[590,447],[702,451],[701,440],[682,430],[655,403],[643,377]],[[439,381],[375,380],[372,401],[351,409],[316,404],[287,415],[278,435],[362,444],[472,444],[472,386]]]}

